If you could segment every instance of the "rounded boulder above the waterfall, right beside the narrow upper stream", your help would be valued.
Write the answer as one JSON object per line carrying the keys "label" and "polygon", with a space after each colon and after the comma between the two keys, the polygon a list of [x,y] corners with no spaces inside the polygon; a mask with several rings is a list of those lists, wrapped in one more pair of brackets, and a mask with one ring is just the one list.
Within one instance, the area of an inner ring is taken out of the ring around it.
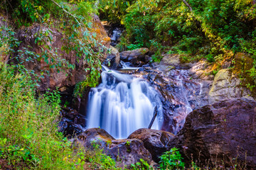
{"label": "rounded boulder above the waterfall, right beside the narrow upper stream", "polygon": [[147,52],[149,52],[149,49],[145,47],[124,51],[120,53],[120,59],[124,62],[132,62],[132,64],[136,64],[137,61],[145,62],[145,55]]}

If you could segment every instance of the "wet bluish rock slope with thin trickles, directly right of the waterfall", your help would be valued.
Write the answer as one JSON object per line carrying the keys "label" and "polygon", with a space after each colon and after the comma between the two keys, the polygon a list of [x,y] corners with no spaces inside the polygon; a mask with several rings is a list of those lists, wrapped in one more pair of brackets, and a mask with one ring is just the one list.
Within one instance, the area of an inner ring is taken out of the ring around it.
{"label": "wet bluish rock slope with thin trickles, directly right of the waterfall", "polygon": [[164,110],[161,130],[176,134],[183,127],[188,113],[208,104],[211,81],[193,79],[188,70],[171,69],[169,72],[161,72],[159,69],[145,68],[141,74],[161,94]]}

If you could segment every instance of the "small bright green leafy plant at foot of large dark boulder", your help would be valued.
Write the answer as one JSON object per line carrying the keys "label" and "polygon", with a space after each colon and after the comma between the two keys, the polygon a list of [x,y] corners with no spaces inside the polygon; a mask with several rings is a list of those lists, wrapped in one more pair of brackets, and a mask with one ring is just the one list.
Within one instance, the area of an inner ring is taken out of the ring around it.
{"label": "small bright green leafy plant at foot of large dark boulder", "polygon": [[162,154],[160,159],[160,169],[184,169],[185,167],[184,162],[181,161],[183,158],[175,147]]}

